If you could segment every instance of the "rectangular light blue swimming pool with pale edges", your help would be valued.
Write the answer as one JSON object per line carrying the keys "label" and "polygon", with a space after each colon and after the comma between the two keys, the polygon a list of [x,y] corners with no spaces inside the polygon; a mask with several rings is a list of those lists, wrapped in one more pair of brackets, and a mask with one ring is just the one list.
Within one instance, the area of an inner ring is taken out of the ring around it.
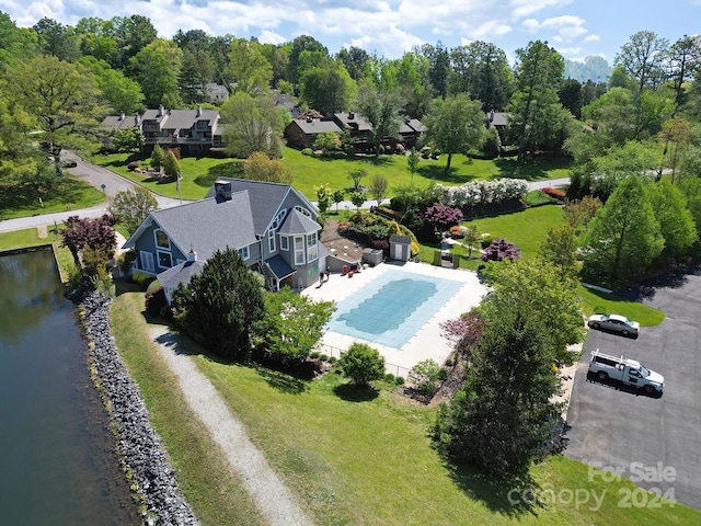
{"label": "rectangular light blue swimming pool with pale edges", "polygon": [[401,348],[464,282],[386,272],[336,305],[330,331]]}

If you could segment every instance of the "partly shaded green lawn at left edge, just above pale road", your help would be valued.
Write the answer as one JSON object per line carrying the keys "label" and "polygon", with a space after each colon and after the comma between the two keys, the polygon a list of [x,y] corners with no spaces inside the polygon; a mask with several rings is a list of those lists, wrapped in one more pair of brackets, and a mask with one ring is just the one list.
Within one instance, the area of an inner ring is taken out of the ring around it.
{"label": "partly shaded green lawn at left edge, just above pale road", "polygon": [[0,192],[0,219],[39,216],[55,211],[90,208],[105,201],[104,194],[92,185],[72,175],[64,174],[60,192],[39,203],[38,197],[26,193],[18,194],[16,188],[2,188]]}

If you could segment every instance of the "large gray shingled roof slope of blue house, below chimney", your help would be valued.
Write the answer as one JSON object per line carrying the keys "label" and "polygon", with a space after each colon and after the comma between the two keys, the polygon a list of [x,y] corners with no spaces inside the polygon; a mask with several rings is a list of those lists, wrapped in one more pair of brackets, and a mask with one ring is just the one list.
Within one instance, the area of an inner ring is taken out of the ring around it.
{"label": "large gray shingled roof slope of blue house, below chimney", "polygon": [[151,213],[151,217],[183,254],[194,249],[204,261],[218,249],[241,249],[257,239],[248,192],[232,193],[231,201],[205,198],[165,208]]}

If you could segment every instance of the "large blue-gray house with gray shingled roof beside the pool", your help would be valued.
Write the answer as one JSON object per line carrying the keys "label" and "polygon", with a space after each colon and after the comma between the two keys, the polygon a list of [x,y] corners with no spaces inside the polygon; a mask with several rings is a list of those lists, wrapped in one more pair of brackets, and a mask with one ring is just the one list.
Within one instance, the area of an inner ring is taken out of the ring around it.
{"label": "large blue-gray house with gray shingled roof beside the pool", "polygon": [[135,271],[163,277],[169,298],[226,248],[238,250],[268,288],[303,288],[326,268],[329,253],[319,239],[317,216],[317,208],[289,185],[225,178],[203,201],[149,214],[124,249],[136,251]]}

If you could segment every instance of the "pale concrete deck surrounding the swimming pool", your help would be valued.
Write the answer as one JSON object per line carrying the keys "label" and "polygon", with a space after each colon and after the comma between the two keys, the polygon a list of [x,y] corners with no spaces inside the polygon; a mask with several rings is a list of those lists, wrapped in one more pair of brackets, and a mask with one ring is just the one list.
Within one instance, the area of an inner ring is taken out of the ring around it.
{"label": "pale concrete deck surrounding the swimming pool", "polygon": [[[401,271],[401,273],[397,271]],[[400,348],[380,345],[331,330],[327,330],[322,338],[321,347],[324,347],[325,354],[337,357],[341,351],[347,350],[355,341],[368,343],[384,356],[388,373],[405,377],[409,369],[418,362],[430,358],[443,364],[446,361],[452,352],[452,344],[440,335],[439,324],[458,318],[462,312],[479,305],[487,289],[480,283],[476,273],[471,271],[445,268],[426,263],[390,262],[363,270],[360,273],[354,274],[353,277],[332,274],[322,286],[315,284],[302,290],[302,294],[317,301],[340,302],[365,287],[372,287],[372,282],[379,276],[392,272],[402,277],[405,277],[405,273],[413,273],[417,277],[423,275],[456,281],[462,283],[462,286],[456,294],[446,297],[443,307],[436,310],[430,319]]]}

